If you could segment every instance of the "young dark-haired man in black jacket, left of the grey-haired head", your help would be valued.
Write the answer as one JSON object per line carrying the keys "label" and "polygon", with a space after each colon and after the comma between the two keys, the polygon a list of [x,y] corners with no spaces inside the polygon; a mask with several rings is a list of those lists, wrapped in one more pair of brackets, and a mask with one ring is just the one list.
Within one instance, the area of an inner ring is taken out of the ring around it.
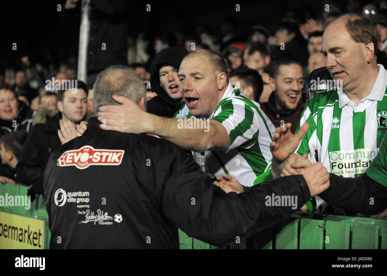
{"label": "young dark-haired man in black jacket, left of the grey-haired head", "polygon": [[[29,131],[16,166],[16,180],[32,185],[28,195],[34,197],[35,194],[43,194],[43,172],[48,158],[61,145],[58,138],[60,119],[67,118],[74,126],[82,121],[87,111],[87,93],[87,85],[81,81],[77,81],[75,93],[72,90],[58,91],[57,106],[60,112],[52,116],[52,111],[47,111],[47,115],[42,116],[42,121],[34,124]],[[45,109],[41,112],[43,111]]]}

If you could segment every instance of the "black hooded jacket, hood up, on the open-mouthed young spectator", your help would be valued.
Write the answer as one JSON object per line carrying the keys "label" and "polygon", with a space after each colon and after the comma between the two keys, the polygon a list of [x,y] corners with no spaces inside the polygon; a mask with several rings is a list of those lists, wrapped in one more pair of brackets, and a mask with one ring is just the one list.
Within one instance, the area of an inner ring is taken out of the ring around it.
{"label": "black hooded jacket, hood up, on the open-mouthed young spectator", "polygon": [[179,70],[180,63],[188,54],[183,47],[169,47],[156,55],[151,66],[151,87],[157,96],[147,101],[147,112],[163,117],[172,117],[182,106],[180,99],[172,99],[163,87],[160,86],[159,70],[163,66],[172,66]]}

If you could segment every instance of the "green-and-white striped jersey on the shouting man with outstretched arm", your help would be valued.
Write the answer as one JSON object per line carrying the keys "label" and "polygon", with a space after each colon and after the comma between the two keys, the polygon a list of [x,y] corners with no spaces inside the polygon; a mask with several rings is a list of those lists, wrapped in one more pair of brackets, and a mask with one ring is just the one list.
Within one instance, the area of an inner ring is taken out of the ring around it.
{"label": "green-and-white striped jersey on the shouting man with outstretched arm", "polygon": [[[185,104],[173,117],[195,118]],[[269,145],[274,125],[257,102],[249,100],[242,90],[234,89],[231,83],[209,119],[226,128],[230,146],[226,152],[192,152],[195,161],[212,178],[219,174],[231,174],[240,183],[252,186],[272,158]]]}

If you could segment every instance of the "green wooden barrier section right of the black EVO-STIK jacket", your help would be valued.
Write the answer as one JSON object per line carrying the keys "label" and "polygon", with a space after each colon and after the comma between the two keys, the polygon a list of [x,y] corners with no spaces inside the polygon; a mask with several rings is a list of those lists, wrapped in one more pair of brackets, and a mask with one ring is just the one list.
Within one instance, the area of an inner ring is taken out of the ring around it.
{"label": "green wooden barrier section right of the black EVO-STIK jacket", "polygon": [[[182,236],[180,235],[180,238]],[[185,234],[184,239],[189,237]],[[189,246],[180,248],[188,249]],[[193,239],[191,249],[214,249]],[[387,249],[387,220],[296,212],[229,249]]]}

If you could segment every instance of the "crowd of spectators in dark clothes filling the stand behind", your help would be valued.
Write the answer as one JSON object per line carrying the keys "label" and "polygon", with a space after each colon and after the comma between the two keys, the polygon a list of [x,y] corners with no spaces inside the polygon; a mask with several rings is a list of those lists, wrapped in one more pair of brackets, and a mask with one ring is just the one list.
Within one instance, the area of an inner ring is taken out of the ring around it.
{"label": "crowd of spectators in dark clothes filling the stand behind", "polygon": [[[75,5],[67,1],[67,8]],[[97,7],[94,11],[103,10]],[[121,7],[115,20],[120,20]],[[67,118],[76,125],[94,116],[92,86],[96,74],[108,65],[132,66],[144,80],[147,88],[147,111],[159,116],[172,117],[182,106],[178,68],[185,55],[197,49],[211,49],[226,61],[229,80],[242,89],[253,101],[259,102],[274,126],[291,122],[295,132],[301,117],[301,88],[304,78],[313,70],[324,67],[321,51],[325,26],[340,14],[347,12],[330,5],[330,11],[305,12],[302,19],[298,13],[288,12],[282,19],[276,18],[276,29],[255,25],[250,30],[235,27],[235,19],[222,23],[219,35],[205,29],[182,35],[178,32],[160,33],[151,41],[144,34],[124,38],[127,43],[126,64],[122,58],[99,59],[89,51],[87,78],[77,80],[77,91],[57,90],[48,87],[50,82],[63,83],[77,79],[76,57],[55,68],[43,65],[31,56],[21,56],[14,65],[0,72],[0,181],[19,181],[31,186],[31,195],[43,193],[43,171],[50,153],[61,143],[58,138],[60,119]],[[365,5],[358,14],[369,17],[379,34],[377,62],[387,68],[387,4]],[[103,15],[99,15],[103,16]],[[111,16],[111,14],[110,14]],[[94,49],[99,32],[116,28],[106,19],[93,27],[96,17],[91,17],[89,49]],[[98,18],[98,17],[97,17]],[[273,19],[274,20],[274,19]],[[126,31],[122,22],[120,30]],[[245,34],[248,33],[246,36]],[[111,39],[123,39],[111,35]],[[179,42],[180,41],[180,42]],[[98,42],[99,43],[99,42]],[[122,41],[113,43],[122,46]],[[149,51],[149,45],[153,49]],[[375,45],[376,46],[376,45]],[[113,46],[114,47],[114,46]],[[121,47],[122,48],[122,47]],[[122,49],[118,52],[122,52]],[[94,58],[93,58],[94,56]],[[114,63],[114,64],[113,64]],[[92,77],[91,77],[92,76]]]}

